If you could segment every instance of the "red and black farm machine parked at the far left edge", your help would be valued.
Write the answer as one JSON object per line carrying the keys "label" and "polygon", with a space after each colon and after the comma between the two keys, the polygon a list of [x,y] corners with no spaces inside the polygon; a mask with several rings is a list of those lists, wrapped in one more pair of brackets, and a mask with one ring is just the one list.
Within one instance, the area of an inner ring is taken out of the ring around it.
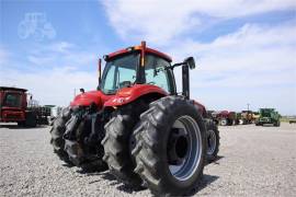
{"label": "red and black farm machine parked at the far left edge", "polygon": [[0,86],[0,123],[18,123],[25,127],[47,124],[50,108],[31,105],[32,95],[27,101],[26,92],[25,89]]}

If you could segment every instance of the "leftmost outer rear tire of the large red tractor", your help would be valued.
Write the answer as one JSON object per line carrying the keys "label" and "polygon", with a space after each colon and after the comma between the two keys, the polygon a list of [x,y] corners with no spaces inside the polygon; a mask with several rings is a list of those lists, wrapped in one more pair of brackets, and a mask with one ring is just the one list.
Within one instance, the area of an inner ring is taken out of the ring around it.
{"label": "leftmost outer rear tire of the large red tractor", "polygon": [[69,107],[64,108],[58,117],[54,120],[50,129],[50,143],[54,147],[54,152],[59,159],[68,164],[72,164],[65,149],[65,140],[62,136],[66,131],[66,123],[70,118],[71,111]]}

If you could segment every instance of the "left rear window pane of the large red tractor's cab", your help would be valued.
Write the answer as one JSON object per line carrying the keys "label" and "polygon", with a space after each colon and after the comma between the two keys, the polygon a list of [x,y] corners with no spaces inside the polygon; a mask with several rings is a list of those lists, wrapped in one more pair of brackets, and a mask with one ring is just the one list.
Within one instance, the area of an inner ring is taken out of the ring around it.
{"label": "left rear window pane of the large red tractor's cab", "polygon": [[116,90],[132,85],[136,81],[139,53],[119,56],[106,62],[101,90],[114,94]]}

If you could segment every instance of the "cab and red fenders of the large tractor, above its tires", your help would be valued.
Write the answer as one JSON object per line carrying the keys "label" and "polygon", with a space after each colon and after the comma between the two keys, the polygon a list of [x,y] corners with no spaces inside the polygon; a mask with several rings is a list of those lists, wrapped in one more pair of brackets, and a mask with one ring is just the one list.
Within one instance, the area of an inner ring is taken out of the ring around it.
{"label": "cab and red fenders of the large tractor, above its tires", "polygon": [[[173,74],[175,67],[182,66],[182,95],[190,99],[190,72],[195,68],[193,57],[183,62],[171,65],[171,57],[158,50],[141,45],[121,49],[104,56],[105,68],[101,74],[101,59],[99,59],[99,85],[96,91],[77,95],[71,106],[90,106],[94,104],[99,109],[117,107],[128,104],[141,96],[162,97],[177,95]],[[195,102],[203,113],[204,106]]]}

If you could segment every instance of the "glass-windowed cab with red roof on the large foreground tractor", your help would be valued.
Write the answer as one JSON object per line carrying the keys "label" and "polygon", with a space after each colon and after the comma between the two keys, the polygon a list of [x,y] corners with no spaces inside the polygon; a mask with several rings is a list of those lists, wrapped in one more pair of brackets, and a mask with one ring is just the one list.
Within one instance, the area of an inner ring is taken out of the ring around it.
{"label": "glass-windowed cab with red roof on the large foreground tractor", "polygon": [[175,93],[175,84],[169,56],[146,48],[145,57],[139,47],[105,56],[106,61],[100,89],[105,94],[115,94],[122,88],[134,84],[152,84],[169,94]]}

